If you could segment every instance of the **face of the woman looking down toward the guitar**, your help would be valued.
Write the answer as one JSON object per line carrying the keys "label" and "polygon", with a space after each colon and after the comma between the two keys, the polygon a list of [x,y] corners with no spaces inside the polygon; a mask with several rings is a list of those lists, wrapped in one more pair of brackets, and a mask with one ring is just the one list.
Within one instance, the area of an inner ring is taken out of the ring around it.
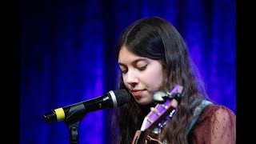
{"label": "face of the woman looking down toward the guitar", "polygon": [[147,105],[153,102],[154,91],[162,86],[162,64],[157,60],[139,57],[122,46],[119,51],[118,64],[122,71],[123,82],[133,94],[136,102]]}

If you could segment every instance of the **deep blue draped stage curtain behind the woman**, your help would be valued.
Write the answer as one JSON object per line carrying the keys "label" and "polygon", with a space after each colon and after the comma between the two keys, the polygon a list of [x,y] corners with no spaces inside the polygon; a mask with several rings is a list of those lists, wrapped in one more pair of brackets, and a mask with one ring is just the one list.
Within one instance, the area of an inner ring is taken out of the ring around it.
{"label": "deep blue draped stage curtain behind the woman", "polygon": [[[115,46],[138,18],[166,18],[181,32],[207,92],[236,112],[235,0],[23,0],[20,3],[20,143],[68,144],[64,122],[42,114],[116,87]],[[110,142],[109,110],[86,114],[79,143]]]}

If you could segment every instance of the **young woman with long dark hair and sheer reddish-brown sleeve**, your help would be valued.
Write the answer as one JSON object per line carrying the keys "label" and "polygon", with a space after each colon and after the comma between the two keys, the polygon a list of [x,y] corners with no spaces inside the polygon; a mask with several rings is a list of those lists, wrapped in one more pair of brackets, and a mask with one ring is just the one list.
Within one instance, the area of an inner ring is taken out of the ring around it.
{"label": "young woman with long dark hair and sheer reddish-brown sleeve", "polygon": [[[142,18],[123,31],[118,45],[118,89],[130,102],[116,109],[114,143],[131,144],[150,107],[154,92],[183,87],[183,97],[161,130],[152,130],[145,143],[236,143],[236,115],[207,97],[186,42],[163,18]],[[196,117],[198,114],[198,117]]]}

